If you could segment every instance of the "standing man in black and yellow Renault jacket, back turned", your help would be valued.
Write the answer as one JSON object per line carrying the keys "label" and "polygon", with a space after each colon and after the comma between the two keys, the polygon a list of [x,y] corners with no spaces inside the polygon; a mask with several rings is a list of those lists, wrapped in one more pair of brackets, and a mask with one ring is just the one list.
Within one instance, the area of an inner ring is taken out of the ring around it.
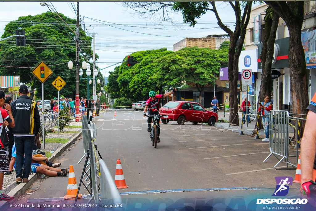
{"label": "standing man in black and yellow Renault jacket, back turned", "polygon": [[[12,129],[16,148],[16,184],[27,183],[31,171],[35,135],[40,131],[40,113],[36,102],[27,96],[27,85],[20,85],[20,97],[11,102],[15,127]],[[24,171],[22,172],[24,156]]]}

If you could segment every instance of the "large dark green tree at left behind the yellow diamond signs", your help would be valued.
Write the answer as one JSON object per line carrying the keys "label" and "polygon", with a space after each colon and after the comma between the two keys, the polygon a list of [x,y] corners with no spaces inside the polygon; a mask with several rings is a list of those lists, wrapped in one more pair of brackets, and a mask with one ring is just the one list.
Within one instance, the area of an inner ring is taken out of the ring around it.
{"label": "large dark green tree at left behind the yellow diamond signs", "polygon": [[[58,91],[52,87],[52,81],[60,76],[67,83],[60,94],[75,99],[76,73],[75,68],[69,70],[67,62],[76,60],[76,44],[73,41],[73,31],[64,26],[60,26],[55,16],[51,12],[46,12],[36,16],[23,16],[18,20],[9,22],[2,38],[15,34],[16,29],[25,29],[26,46],[16,47],[15,38],[0,42],[0,67],[1,75],[20,75],[22,83],[30,83],[32,89],[37,89],[36,97],[41,98],[41,82],[35,78],[31,71],[41,61],[52,70],[52,75],[44,83],[44,94],[46,99],[56,97]],[[75,31],[74,19],[70,19],[63,14],[59,16]],[[61,20],[59,20],[61,21]],[[80,29],[81,57],[89,60],[92,57],[91,40],[83,30]],[[83,59],[80,59],[82,62]],[[96,56],[98,58],[98,56]],[[17,68],[23,67],[23,68]],[[26,68],[24,68],[26,67]],[[80,95],[86,96],[87,80],[82,80],[80,85]]]}

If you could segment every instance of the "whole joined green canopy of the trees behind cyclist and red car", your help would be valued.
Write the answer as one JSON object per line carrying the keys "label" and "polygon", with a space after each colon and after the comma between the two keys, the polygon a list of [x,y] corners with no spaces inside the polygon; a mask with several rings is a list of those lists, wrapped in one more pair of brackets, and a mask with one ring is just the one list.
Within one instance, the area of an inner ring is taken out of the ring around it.
{"label": "whole joined green canopy of the trees behind cyclist and red car", "polygon": [[123,63],[110,72],[106,89],[112,98],[145,100],[151,90],[163,93],[168,88],[185,87],[189,82],[204,90],[206,84],[214,83],[221,63],[227,62],[227,50],[198,47],[176,52],[161,48],[131,55],[137,60],[136,65],[129,67]]}

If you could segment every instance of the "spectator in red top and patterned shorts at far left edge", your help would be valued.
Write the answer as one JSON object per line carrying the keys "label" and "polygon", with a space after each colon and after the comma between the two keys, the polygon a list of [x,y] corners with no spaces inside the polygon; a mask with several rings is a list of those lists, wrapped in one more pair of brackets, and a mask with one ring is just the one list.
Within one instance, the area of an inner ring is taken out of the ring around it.
{"label": "spectator in red top and patterned shorts at far left edge", "polygon": [[3,174],[9,171],[9,140],[8,134],[3,127],[15,127],[15,122],[11,113],[11,107],[9,104],[4,104],[5,95],[2,90],[0,90],[0,107],[5,107],[5,109],[0,109],[0,201],[9,201],[14,199],[14,196],[9,196],[3,193]]}

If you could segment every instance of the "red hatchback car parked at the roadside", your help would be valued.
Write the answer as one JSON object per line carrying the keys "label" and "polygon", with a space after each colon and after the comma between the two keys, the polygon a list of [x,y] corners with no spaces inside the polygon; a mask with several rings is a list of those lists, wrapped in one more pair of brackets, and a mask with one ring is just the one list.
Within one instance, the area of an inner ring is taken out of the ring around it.
{"label": "red hatchback car parked at the roadside", "polygon": [[214,126],[218,120],[216,113],[205,110],[203,106],[197,102],[188,101],[169,101],[159,111],[161,121],[167,124],[170,120],[177,121],[179,125],[184,124],[185,121],[193,122],[196,125],[199,122],[207,122]]}

